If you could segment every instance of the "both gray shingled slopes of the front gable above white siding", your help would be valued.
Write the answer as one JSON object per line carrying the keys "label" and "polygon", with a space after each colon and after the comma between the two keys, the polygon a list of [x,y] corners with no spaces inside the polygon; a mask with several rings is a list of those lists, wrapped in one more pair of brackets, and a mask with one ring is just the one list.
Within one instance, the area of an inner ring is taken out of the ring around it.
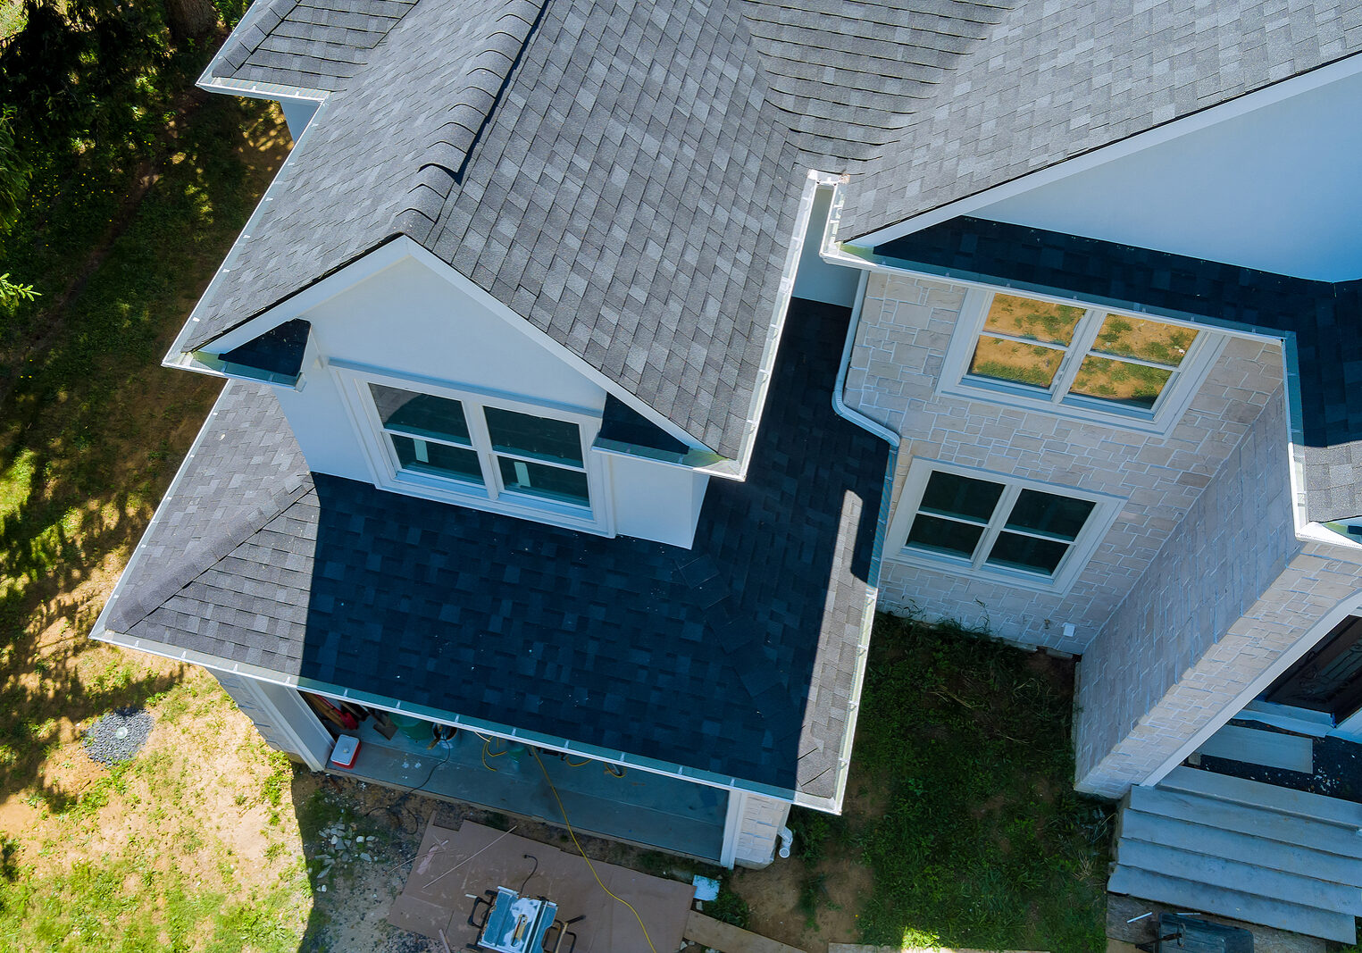
{"label": "both gray shingled slopes of the front gable above white siding", "polygon": [[533,8],[418,3],[313,120],[189,347],[402,233],[737,456],[798,203],[741,18],[561,0],[511,71]]}

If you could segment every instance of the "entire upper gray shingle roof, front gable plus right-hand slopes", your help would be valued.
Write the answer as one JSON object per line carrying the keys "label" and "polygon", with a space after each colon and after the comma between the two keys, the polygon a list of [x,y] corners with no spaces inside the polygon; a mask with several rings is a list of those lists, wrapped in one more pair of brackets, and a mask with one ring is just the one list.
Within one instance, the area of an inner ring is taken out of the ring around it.
{"label": "entire upper gray shingle roof, front gable plus right-hand slopes", "polygon": [[214,71],[331,95],[187,347],[409,234],[737,457],[808,167],[851,174],[849,238],[1346,56],[1359,25],[1324,0],[275,0]]}

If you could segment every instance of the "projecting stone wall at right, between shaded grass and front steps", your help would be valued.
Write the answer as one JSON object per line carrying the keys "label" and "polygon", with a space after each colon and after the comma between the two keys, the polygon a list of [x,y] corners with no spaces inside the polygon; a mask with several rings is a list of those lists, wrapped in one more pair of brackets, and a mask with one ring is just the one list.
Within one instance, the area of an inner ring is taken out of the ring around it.
{"label": "projecting stone wall at right, between shaded grass and front steps", "polygon": [[1279,392],[1084,653],[1081,790],[1148,777],[1305,632],[1245,624],[1291,599],[1276,587],[1301,551],[1284,438]]}

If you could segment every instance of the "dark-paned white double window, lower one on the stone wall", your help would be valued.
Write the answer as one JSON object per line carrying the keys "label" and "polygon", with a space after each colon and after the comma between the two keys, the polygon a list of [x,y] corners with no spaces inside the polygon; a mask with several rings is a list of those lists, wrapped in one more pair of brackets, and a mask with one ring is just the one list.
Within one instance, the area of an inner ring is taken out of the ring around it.
{"label": "dark-paned white double window, lower one on the stone wall", "polygon": [[1120,501],[915,460],[889,530],[891,555],[1027,588],[1065,588]]}

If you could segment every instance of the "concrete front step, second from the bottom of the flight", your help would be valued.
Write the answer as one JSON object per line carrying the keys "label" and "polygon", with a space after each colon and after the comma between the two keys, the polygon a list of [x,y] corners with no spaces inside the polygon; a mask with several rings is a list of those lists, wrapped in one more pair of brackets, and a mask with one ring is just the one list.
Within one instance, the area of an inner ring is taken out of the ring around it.
{"label": "concrete front step, second from the bottom of the flight", "polygon": [[1352,916],[1362,914],[1362,889],[1355,886],[1126,837],[1121,839],[1115,850],[1115,862],[1122,867],[1140,867],[1166,877],[1179,877],[1208,886],[1223,886],[1238,893],[1252,893],[1257,897],[1316,907],[1335,914]]}

